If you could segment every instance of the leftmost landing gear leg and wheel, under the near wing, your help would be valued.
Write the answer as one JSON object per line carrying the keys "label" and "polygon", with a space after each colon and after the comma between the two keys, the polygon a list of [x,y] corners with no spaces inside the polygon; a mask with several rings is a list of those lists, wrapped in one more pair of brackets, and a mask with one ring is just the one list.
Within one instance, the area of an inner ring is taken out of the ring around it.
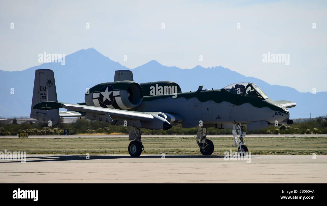
{"label": "leftmost landing gear leg and wheel, under the near wing", "polygon": [[129,140],[133,140],[128,145],[128,153],[132,157],[138,157],[144,150],[141,142],[141,128],[136,126],[129,127]]}

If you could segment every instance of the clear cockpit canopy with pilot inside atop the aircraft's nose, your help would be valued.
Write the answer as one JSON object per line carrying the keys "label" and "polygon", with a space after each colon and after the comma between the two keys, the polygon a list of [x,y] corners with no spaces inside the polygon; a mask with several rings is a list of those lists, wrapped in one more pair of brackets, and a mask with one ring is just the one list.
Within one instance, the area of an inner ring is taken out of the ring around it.
{"label": "clear cockpit canopy with pilot inside atop the aircraft's nose", "polygon": [[257,85],[250,82],[231,84],[224,87],[223,89],[236,95],[269,99],[269,97]]}

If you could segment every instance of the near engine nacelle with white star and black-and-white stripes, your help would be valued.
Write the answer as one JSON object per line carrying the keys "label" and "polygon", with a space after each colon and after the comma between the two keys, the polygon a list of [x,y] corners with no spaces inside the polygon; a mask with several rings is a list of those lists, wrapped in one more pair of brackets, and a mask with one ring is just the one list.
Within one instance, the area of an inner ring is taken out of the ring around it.
{"label": "near engine nacelle with white star and black-and-white stripes", "polygon": [[129,110],[143,100],[143,90],[135,81],[115,81],[97,84],[86,91],[85,103],[111,109]]}

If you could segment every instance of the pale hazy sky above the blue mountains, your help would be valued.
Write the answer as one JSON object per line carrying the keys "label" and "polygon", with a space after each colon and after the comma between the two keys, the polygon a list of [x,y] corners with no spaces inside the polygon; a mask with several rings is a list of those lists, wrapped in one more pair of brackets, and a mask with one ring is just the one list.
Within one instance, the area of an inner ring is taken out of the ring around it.
{"label": "pale hazy sky above the blue mountains", "polygon": [[[40,65],[43,52],[68,55],[93,47],[129,68],[150,60],[180,68],[223,66],[300,92],[327,91],[326,6],[326,1],[2,0],[0,69]],[[289,65],[263,63],[268,52],[289,54]]]}

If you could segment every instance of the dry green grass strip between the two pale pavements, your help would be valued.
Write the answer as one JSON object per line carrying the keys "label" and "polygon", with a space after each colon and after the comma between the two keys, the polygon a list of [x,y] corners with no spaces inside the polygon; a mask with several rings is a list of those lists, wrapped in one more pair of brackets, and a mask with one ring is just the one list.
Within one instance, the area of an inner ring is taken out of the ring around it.
{"label": "dry green grass strip between the two pale pavements", "polygon": [[[209,138],[215,155],[237,151],[233,138]],[[26,154],[128,154],[127,138],[1,138],[0,151],[26,151]],[[142,154],[199,155],[194,137],[142,138]],[[252,155],[327,155],[325,137],[251,137],[245,138]]]}

